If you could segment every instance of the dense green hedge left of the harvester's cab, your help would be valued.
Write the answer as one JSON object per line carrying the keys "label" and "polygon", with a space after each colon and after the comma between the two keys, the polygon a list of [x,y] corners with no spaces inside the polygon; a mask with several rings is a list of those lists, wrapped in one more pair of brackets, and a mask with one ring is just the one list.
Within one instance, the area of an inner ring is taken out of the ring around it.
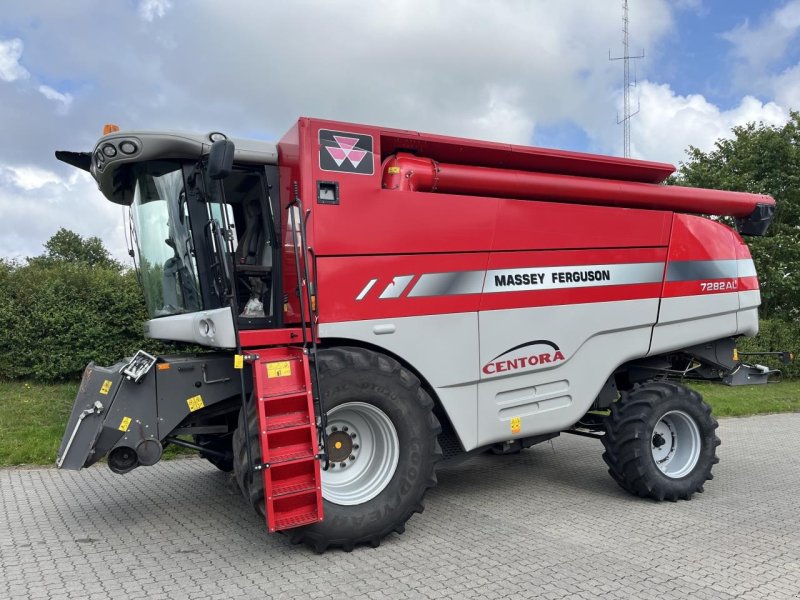
{"label": "dense green hedge left of the harvester's cab", "polygon": [[[0,261],[0,379],[61,381],[148,346],[133,272]],[[152,342],[149,343],[152,345]]]}

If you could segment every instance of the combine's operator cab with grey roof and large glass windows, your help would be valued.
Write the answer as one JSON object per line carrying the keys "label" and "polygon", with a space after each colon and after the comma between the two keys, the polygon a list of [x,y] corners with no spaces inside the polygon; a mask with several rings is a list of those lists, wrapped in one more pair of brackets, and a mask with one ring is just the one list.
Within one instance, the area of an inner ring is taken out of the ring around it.
{"label": "combine's operator cab with grey roof and large glass windows", "polygon": [[[212,142],[227,144],[224,173]],[[130,209],[146,335],[235,348],[237,329],[281,325],[273,144],[234,144],[219,133],[114,132],[91,154],[57,156],[88,166],[103,194]]]}

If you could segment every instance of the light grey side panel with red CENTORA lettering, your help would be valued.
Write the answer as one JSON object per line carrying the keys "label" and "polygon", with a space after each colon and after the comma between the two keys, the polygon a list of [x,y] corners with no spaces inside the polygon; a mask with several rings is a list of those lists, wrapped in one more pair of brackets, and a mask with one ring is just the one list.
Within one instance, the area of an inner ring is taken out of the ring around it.
{"label": "light grey side panel with red CENTORA lettering", "polygon": [[[481,313],[483,368],[509,348],[530,340],[555,342],[564,359],[501,373],[482,371],[478,445],[574,425],[589,410],[614,369],[647,353],[657,316],[658,299]],[[539,348],[546,350],[544,345]],[[503,358],[513,361],[537,353],[536,347],[529,347]],[[512,428],[514,418],[518,421]]]}

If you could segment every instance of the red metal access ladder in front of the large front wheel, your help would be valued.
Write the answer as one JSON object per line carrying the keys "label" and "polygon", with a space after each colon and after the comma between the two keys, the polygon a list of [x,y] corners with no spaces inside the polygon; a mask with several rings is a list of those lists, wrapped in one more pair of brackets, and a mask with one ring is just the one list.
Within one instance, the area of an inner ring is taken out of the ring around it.
{"label": "red metal access ladder in front of the large front wheel", "polygon": [[252,350],[269,532],[322,520],[317,425],[308,352]]}

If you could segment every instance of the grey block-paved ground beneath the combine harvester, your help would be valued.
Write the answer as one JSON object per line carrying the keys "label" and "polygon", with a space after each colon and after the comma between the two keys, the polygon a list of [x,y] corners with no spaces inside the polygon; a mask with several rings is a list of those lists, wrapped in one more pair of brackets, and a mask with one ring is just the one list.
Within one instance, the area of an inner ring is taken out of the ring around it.
{"label": "grey block-paved ground beneath the combine harvester", "polygon": [[799,430],[723,420],[716,478],[674,504],[624,493],[596,440],[479,456],[349,554],[267,535],[199,459],[0,470],[0,598],[800,598]]}

